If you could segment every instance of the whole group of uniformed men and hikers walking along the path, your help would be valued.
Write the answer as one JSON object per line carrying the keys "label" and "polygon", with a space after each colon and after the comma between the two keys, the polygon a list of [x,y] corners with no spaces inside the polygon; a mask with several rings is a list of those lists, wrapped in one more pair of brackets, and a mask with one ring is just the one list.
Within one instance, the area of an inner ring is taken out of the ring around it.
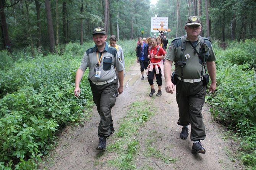
{"label": "whole group of uniformed men and hikers walking along the path", "polygon": [[[198,16],[190,16],[185,25],[186,35],[174,38],[170,44],[159,36],[150,37],[150,44],[143,38],[138,38],[136,47],[137,63],[140,64],[141,80],[146,79],[151,87],[149,97],[156,90],[156,96],[162,95],[162,78],[165,79],[165,91],[174,93],[178,104],[178,125],[182,126],[180,138],[188,138],[188,125],[191,127],[190,140],[193,141],[192,152],[206,153],[201,140],[206,138],[206,132],[201,114],[204,106],[206,88],[209,93],[216,90],[215,54],[211,41],[201,37],[201,20]],[[116,44],[114,35],[110,37],[110,46],[106,42],[107,35],[104,28],[97,27],[92,32],[95,47],[89,48],[76,72],[74,95],[79,97],[79,84],[84,71],[89,67],[88,80],[90,82],[93,101],[100,115],[98,126],[98,150],[106,149],[106,138],[115,132],[111,109],[115,106],[116,97],[123,93],[125,61],[122,47]],[[160,42],[165,42],[161,47]],[[166,43],[167,42],[167,43]],[[165,45],[166,44],[166,45]],[[172,72],[174,62],[175,70]],[[144,77],[144,70],[146,76]]]}

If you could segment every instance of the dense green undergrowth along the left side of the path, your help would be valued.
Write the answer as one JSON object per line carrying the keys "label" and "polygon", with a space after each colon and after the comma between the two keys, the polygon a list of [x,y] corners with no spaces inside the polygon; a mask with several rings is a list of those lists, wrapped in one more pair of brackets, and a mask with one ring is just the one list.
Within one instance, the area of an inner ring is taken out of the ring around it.
{"label": "dense green undergrowth along the left side of the path", "polygon": [[[118,41],[126,67],[136,60],[136,40]],[[82,125],[92,101],[88,69],[74,96],[75,74],[94,42],[57,46],[55,53],[40,48],[0,51],[0,169],[34,170],[41,156],[56,143],[55,133],[67,123]],[[133,45],[135,45],[133,47]],[[142,117],[142,119],[144,119]]]}

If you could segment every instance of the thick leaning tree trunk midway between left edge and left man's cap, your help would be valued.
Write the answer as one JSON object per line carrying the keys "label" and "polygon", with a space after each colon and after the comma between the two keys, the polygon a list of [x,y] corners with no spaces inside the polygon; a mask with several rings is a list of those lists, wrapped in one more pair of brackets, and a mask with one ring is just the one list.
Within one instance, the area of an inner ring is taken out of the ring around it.
{"label": "thick leaning tree trunk midway between left edge and left man's cap", "polygon": [[52,13],[50,8],[50,0],[45,0],[45,10],[47,15],[47,25],[48,25],[48,34],[49,34],[49,41],[50,41],[50,52],[54,52],[55,48],[55,39],[54,39],[54,32],[53,32],[53,25],[52,25]]}

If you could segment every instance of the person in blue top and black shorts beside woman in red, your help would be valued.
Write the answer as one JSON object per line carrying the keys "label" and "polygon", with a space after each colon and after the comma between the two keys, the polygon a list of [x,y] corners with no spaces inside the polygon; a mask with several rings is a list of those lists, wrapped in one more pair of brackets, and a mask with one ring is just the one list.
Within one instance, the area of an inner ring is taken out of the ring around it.
{"label": "person in blue top and black shorts beside woman in red", "polygon": [[149,45],[141,37],[138,38],[138,41],[139,45],[136,48],[137,63],[141,66],[141,80],[144,80],[144,70],[147,69],[150,60],[147,58]]}

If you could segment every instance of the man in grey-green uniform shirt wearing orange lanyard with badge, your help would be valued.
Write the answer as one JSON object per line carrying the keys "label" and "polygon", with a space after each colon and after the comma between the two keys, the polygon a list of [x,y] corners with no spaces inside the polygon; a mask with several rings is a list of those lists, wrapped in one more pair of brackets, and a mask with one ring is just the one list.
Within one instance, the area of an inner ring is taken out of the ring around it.
{"label": "man in grey-green uniform shirt wearing orange lanyard with badge", "polygon": [[[111,109],[115,106],[115,89],[119,79],[119,95],[123,92],[123,64],[120,53],[113,47],[108,47],[105,30],[97,27],[92,33],[95,47],[89,48],[76,72],[75,96],[79,97],[79,84],[84,71],[89,67],[88,80],[91,85],[93,101],[100,115],[98,127],[99,145],[96,149],[105,150],[106,138],[115,132]],[[118,72],[116,74],[116,71]],[[118,75],[118,79],[117,79]]]}

